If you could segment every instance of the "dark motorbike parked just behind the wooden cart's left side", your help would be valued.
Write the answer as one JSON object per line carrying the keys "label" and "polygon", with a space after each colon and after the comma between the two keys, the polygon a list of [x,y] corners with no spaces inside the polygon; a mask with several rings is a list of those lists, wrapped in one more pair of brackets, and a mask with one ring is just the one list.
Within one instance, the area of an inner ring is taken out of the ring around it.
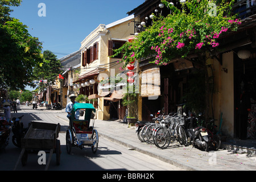
{"label": "dark motorbike parked just behind the wooden cart's left side", "polygon": [[27,133],[28,128],[24,128],[23,123],[21,122],[21,119],[24,115],[18,117],[18,118],[13,118],[11,119],[13,121],[13,144],[16,147],[21,147],[21,139],[24,138],[25,134]]}

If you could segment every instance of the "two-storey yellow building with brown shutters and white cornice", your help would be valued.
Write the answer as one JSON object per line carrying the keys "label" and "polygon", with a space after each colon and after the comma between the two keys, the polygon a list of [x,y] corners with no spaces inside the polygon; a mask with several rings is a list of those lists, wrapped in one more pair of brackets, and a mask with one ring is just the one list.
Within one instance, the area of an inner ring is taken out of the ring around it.
{"label": "two-storey yellow building with brown shutters and white cornice", "polygon": [[130,15],[108,25],[100,24],[81,42],[81,72],[79,78],[73,80],[73,84],[77,86],[80,94],[92,99],[90,102],[97,108],[97,119],[111,119],[113,116],[110,110],[113,110],[113,105],[118,113],[115,117],[121,119],[120,101],[107,103],[104,97],[111,94],[108,96],[108,93],[102,93],[101,90],[98,93],[97,88],[101,80],[122,72],[123,64],[118,63],[121,55],[115,58],[109,56],[113,55],[113,49],[121,47],[134,36],[135,22],[134,15]]}

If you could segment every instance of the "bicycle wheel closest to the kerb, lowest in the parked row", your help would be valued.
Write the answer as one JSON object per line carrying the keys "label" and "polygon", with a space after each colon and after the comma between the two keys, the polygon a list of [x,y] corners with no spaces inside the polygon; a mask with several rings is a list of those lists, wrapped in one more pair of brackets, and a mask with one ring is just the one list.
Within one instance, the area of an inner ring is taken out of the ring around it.
{"label": "bicycle wheel closest to the kerb, lowest in the parked row", "polygon": [[163,127],[159,127],[155,133],[155,144],[158,148],[167,148],[170,144],[170,134]]}

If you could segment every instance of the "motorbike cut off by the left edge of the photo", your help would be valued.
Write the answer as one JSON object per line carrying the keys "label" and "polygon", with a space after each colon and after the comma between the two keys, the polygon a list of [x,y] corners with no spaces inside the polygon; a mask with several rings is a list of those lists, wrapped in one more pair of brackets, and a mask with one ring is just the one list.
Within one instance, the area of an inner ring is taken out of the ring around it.
{"label": "motorbike cut off by the left edge of the photo", "polygon": [[11,133],[11,123],[2,119],[0,120],[0,150],[9,144],[9,136]]}

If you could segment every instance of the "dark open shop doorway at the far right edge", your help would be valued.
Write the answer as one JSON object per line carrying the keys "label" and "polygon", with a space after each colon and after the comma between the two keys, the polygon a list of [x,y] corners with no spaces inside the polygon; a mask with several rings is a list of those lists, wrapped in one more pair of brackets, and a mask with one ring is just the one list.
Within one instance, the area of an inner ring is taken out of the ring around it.
{"label": "dark open shop doorway at the far right edge", "polygon": [[234,54],[234,138],[256,139],[256,56]]}

